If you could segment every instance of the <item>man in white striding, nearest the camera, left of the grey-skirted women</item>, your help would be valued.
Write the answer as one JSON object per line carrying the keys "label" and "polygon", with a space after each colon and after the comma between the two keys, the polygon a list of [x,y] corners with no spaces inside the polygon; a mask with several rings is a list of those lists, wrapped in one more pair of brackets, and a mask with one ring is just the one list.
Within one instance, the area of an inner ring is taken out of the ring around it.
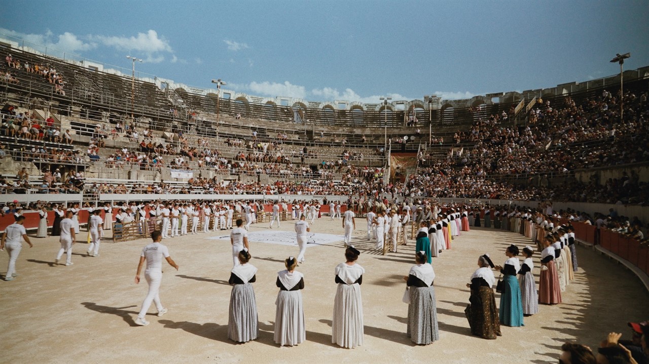
{"label": "man in white striding, nearest the camera, left of the grey-skirted women", "polygon": [[151,239],[153,240],[153,243],[142,249],[140,264],[138,264],[138,271],[135,275],[135,284],[139,284],[140,271],[142,270],[142,266],[146,260],[147,269],[144,271],[144,277],[147,280],[147,283],[149,283],[149,293],[147,293],[147,297],[142,302],[142,308],[140,313],[138,313],[138,318],[135,320],[135,324],[138,326],[147,326],[147,324],[149,324],[149,321],[144,319],[144,315],[149,311],[151,302],[156,304],[158,316],[167,313],[167,309],[162,306],[162,303],[160,303],[160,295],[158,294],[160,283],[162,282],[162,258],[165,258],[170,266],[175,267],[176,270],[178,270],[178,264],[176,264],[176,262],[171,259],[171,256],[169,256],[169,249],[167,249],[165,245],[160,244],[162,233],[157,230],[154,231],[151,233]]}

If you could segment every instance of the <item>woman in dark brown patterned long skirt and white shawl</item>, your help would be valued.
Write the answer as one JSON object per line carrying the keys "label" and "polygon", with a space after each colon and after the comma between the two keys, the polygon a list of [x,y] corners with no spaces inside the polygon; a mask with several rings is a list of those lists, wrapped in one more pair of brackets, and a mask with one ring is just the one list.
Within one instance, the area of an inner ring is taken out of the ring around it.
{"label": "woman in dark brown patterned long skirt and white shawl", "polygon": [[483,339],[495,339],[500,336],[500,321],[498,320],[498,308],[496,308],[496,298],[493,294],[493,284],[496,278],[493,276],[493,262],[488,254],[478,258],[478,269],[471,275],[471,283],[467,287],[471,288],[471,297],[469,305],[464,310],[471,334],[480,336]]}

